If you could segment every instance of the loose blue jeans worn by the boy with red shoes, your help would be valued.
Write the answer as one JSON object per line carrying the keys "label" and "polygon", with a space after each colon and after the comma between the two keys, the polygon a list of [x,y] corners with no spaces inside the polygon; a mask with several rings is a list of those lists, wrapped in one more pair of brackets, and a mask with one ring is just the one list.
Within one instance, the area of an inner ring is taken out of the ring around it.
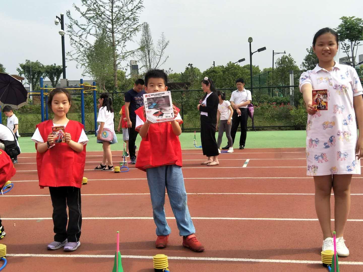
{"label": "loose blue jeans worn by the boy with red shoes", "polygon": [[150,189],[152,211],[156,224],[156,235],[169,235],[171,230],[165,217],[165,187],[168,192],[180,236],[195,233],[187,205],[183,172],[178,165],[165,165],[146,169],[147,183]]}

